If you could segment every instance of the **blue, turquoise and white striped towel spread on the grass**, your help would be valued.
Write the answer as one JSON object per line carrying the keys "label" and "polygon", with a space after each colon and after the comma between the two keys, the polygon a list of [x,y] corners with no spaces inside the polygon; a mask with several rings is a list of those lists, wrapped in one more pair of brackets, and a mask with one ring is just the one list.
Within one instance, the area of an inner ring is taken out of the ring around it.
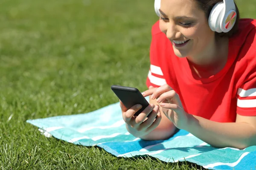
{"label": "blue, turquoise and white striped towel spread on the grass", "polygon": [[166,162],[186,159],[214,170],[256,168],[256,146],[244,150],[230,147],[218,149],[185,130],[180,130],[168,140],[140,140],[126,130],[119,103],[90,113],[27,122],[39,127],[45,135],[73,144],[97,145],[118,157],[149,155]]}

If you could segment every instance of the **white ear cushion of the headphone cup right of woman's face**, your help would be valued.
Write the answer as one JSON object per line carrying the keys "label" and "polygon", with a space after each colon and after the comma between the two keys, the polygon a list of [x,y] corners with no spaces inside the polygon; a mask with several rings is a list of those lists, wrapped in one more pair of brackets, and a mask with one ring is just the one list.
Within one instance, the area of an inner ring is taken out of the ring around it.
{"label": "white ear cushion of the headphone cup right of woman's face", "polygon": [[223,17],[225,5],[223,2],[216,3],[209,15],[208,23],[212,31],[221,33],[221,17]]}

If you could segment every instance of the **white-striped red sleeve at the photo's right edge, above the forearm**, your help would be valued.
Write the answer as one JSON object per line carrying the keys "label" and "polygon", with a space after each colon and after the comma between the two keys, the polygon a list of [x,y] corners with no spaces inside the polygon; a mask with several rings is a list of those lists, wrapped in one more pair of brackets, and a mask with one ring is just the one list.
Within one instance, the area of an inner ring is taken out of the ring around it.
{"label": "white-striped red sleeve at the photo's right edge, above the forearm", "polygon": [[256,69],[237,91],[237,113],[242,116],[256,116]]}

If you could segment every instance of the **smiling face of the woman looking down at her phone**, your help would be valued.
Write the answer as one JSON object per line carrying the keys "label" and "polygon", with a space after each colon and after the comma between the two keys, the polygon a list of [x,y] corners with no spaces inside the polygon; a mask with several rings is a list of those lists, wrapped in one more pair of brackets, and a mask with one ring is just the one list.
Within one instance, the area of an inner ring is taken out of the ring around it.
{"label": "smiling face of the woman looking down at her phone", "polygon": [[215,32],[195,0],[161,0],[160,14],[160,30],[178,57],[205,54],[215,42]]}

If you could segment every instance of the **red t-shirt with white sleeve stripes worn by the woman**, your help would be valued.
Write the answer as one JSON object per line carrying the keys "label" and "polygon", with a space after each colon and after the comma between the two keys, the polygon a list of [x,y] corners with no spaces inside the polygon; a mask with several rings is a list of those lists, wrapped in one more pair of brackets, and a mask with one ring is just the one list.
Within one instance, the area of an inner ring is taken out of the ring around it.
{"label": "red t-shirt with white sleeve stripes worn by the woman", "polygon": [[241,19],[239,31],[229,40],[224,68],[209,78],[199,78],[189,62],[174,54],[172,43],[152,27],[147,86],[168,84],[180,96],[184,110],[215,122],[235,122],[236,113],[256,116],[256,20]]}

